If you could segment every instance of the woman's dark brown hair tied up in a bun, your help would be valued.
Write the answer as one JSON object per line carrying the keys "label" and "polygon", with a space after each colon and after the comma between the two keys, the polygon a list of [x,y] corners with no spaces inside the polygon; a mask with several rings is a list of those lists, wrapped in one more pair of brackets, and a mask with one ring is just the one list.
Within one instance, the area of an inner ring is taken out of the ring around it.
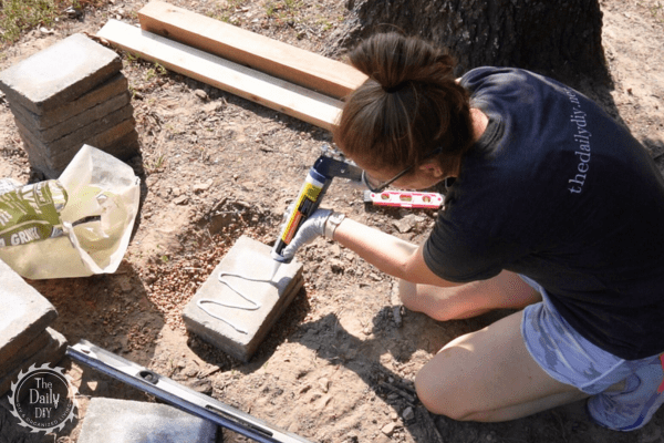
{"label": "woman's dark brown hair tied up in a bun", "polygon": [[333,130],[339,147],[376,168],[398,169],[442,146],[443,171],[455,171],[473,144],[473,125],[454,59],[422,39],[391,32],[363,41],[350,60],[369,79],[347,97]]}

